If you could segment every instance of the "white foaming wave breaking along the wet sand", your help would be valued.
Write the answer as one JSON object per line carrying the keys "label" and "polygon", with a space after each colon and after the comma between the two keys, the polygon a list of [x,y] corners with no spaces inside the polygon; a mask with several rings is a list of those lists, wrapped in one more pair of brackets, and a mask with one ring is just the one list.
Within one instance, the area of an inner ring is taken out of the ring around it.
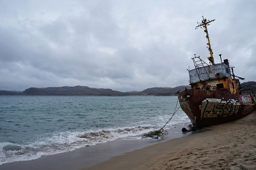
{"label": "white foaming wave breaking along the wet sand", "polygon": [[[115,139],[141,139],[140,135],[157,127],[137,126],[125,128],[108,128],[86,132],[62,132],[48,137],[39,137],[30,144],[0,143],[0,165],[15,161],[30,161],[43,155],[69,152],[81,147],[110,142]],[[137,136],[137,138],[135,138]]]}

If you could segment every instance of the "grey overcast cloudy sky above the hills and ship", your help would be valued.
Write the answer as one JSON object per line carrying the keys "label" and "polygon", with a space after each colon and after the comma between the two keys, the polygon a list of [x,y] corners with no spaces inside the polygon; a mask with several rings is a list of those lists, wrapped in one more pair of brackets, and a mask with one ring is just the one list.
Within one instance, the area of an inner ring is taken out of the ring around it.
{"label": "grey overcast cloudy sky above the hills and ship", "polygon": [[194,54],[256,78],[256,1],[0,1],[0,89],[89,86],[129,91],[189,85]]}

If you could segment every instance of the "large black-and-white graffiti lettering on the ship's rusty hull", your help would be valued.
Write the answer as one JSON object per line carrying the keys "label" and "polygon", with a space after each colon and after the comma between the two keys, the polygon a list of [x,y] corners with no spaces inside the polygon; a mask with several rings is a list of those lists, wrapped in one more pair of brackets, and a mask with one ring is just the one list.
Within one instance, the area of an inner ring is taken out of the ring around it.
{"label": "large black-and-white graffiti lettering on the ship's rusty hull", "polygon": [[238,100],[220,98],[205,98],[201,105],[201,120],[202,118],[214,118],[218,115],[227,117],[228,115],[236,115],[241,104]]}

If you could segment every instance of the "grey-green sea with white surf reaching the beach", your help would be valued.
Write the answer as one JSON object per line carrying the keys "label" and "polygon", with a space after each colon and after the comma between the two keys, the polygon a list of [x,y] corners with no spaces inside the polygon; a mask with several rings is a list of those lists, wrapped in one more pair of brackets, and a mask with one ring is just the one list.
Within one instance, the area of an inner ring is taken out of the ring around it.
{"label": "grey-green sea with white surf reaching the beach", "polygon": [[[0,96],[0,165],[116,139],[142,140],[179,107],[176,96]],[[190,124],[178,109],[165,129]]]}

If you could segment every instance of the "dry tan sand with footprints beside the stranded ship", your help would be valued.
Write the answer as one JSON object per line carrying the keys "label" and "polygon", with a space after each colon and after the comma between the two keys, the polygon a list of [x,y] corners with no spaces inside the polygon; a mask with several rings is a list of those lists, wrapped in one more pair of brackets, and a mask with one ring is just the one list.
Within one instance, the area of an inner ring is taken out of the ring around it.
{"label": "dry tan sand with footprints beside the stranded ship", "polygon": [[127,152],[93,169],[256,169],[256,112],[196,135]]}

